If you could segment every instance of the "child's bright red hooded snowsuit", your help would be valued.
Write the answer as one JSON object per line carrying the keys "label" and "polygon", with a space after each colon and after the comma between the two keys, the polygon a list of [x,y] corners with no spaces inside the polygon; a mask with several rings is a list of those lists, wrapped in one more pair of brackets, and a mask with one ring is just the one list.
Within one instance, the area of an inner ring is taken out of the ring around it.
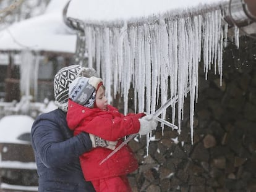
{"label": "child's bright red hooded snowsuit", "polygon": [[[118,146],[124,136],[139,132],[138,119],[143,116],[143,113],[123,115],[110,105],[108,111],[90,109],[69,99],[67,123],[74,130],[74,135],[85,131],[104,140],[118,140]],[[137,159],[129,146],[125,145],[100,165],[110,152],[111,149],[98,147],[80,156],[85,179],[93,183],[96,191],[131,191],[126,175],[138,169]]]}

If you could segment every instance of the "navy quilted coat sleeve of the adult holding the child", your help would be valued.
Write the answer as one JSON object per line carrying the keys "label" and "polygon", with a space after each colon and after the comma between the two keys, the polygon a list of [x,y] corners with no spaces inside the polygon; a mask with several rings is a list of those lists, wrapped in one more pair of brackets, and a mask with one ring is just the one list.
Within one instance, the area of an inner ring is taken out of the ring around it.
{"label": "navy quilted coat sleeve of the adult holding the child", "polygon": [[62,167],[92,148],[87,133],[67,139],[63,129],[56,120],[43,116],[33,123],[32,146],[46,167]]}

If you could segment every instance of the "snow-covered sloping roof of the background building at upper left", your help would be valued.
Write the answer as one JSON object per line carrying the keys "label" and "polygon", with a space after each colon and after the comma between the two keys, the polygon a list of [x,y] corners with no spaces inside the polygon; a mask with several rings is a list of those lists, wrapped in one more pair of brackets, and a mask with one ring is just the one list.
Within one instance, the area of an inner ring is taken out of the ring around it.
{"label": "snow-covered sloping roof of the background building at upper left", "polygon": [[45,14],[14,23],[0,31],[0,50],[75,52],[76,35],[65,25],[62,10],[68,0],[52,0]]}

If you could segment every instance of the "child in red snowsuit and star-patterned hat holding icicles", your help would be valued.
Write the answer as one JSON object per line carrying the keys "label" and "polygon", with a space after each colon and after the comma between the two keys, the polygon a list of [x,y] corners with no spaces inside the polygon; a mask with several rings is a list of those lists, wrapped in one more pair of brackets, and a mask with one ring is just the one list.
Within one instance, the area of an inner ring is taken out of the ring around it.
{"label": "child in red snowsuit and star-patterned hat holding icicles", "polygon": [[[109,105],[101,78],[79,77],[70,83],[67,123],[74,135],[85,131],[104,140],[118,140],[118,146],[126,135],[145,135],[156,128],[156,121],[144,115],[123,115]],[[80,156],[85,180],[91,181],[95,190],[100,192],[132,191],[126,175],[138,168],[137,159],[125,145],[100,165],[110,152],[111,149],[98,147]]]}

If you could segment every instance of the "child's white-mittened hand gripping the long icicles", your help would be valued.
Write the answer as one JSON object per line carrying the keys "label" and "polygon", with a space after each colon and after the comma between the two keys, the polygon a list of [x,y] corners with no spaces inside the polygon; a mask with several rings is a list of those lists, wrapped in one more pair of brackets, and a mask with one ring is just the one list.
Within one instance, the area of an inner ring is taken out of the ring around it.
{"label": "child's white-mittened hand gripping the long icicles", "polygon": [[139,119],[140,122],[140,135],[146,135],[147,133],[150,133],[150,131],[155,130],[157,127],[156,120],[152,117],[152,115],[146,115],[142,117],[142,119]]}

